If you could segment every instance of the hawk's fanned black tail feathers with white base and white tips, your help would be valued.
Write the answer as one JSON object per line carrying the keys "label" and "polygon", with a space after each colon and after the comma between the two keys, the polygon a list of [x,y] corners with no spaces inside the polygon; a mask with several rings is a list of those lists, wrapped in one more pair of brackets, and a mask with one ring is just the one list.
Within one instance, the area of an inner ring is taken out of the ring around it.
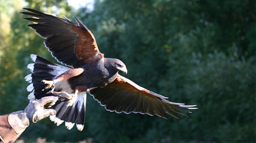
{"label": "hawk's fanned black tail feathers with white base and white tips", "polygon": [[[40,99],[46,96],[53,96],[53,94],[47,94],[51,89],[45,89],[45,84],[42,80],[53,80],[58,75],[71,69],[66,66],[52,63],[37,55],[31,55],[31,59],[34,63],[28,64],[28,69],[32,74],[25,77],[25,80],[31,83],[27,90],[31,92],[28,96],[29,100]],[[55,87],[54,90],[60,90]],[[76,127],[79,131],[82,131],[84,126],[84,115],[86,110],[86,92],[78,93],[78,99],[72,106],[67,106],[68,100],[59,98],[56,104],[50,108],[56,111],[56,115],[51,115],[50,120],[57,126],[66,121],[65,125],[70,130],[76,123]]]}

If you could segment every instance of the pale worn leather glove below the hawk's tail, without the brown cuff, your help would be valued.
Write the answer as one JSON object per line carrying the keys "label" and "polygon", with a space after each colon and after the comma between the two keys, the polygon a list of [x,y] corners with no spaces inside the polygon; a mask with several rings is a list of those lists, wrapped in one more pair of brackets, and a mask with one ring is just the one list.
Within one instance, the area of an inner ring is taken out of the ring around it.
{"label": "pale worn leather glove below the hawk's tail, without the brown cuff", "polygon": [[45,109],[44,106],[53,106],[58,97],[44,97],[29,103],[24,111],[13,112],[8,116],[8,122],[17,134],[21,134],[29,124],[36,123],[49,115],[55,115],[54,109]]}

